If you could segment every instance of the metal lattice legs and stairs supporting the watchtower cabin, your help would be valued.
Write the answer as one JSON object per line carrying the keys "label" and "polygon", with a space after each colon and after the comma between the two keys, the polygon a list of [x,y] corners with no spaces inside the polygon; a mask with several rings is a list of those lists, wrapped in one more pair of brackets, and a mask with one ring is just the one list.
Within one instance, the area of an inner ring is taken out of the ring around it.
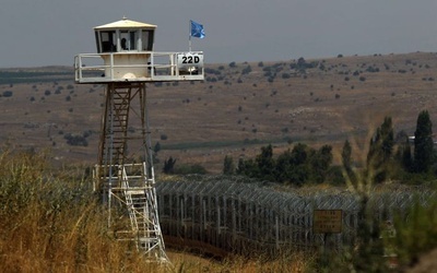
{"label": "metal lattice legs and stairs supporting the watchtower cabin", "polygon": [[134,241],[151,261],[167,261],[157,212],[145,83],[110,83],[105,95],[95,189],[108,205],[108,226],[117,239]]}

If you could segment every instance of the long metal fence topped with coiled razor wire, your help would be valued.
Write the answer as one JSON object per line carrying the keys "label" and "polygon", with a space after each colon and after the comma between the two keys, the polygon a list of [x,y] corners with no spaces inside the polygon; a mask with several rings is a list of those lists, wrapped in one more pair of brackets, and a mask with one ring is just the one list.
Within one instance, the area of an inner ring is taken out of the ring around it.
{"label": "long metal fence topped with coiled razor wire", "polygon": [[[223,178],[190,178],[157,183],[161,226],[167,244],[185,245],[213,254],[276,253],[284,248],[312,248],[323,235],[312,232],[314,210],[342,210],[343,229],[336,246],[354,244],[358,227],[358,197],[349,191],[299,193],[255,182]],[[390,190],[371,194],[377,219],[405,211],[415,198],[423,203],[430,191]]]}

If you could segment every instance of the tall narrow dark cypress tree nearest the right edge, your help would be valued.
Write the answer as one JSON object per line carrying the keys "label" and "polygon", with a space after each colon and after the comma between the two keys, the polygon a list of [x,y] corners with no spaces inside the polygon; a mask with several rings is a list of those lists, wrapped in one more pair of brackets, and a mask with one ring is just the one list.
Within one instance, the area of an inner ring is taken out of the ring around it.
{"label": "tall narrow dark cypress tree nearest the right edge", "polygon": [[414,132],[414,169],[416,173],[429,170],[434,156],[433,123],[427,110],[417,117],[416,131]]}

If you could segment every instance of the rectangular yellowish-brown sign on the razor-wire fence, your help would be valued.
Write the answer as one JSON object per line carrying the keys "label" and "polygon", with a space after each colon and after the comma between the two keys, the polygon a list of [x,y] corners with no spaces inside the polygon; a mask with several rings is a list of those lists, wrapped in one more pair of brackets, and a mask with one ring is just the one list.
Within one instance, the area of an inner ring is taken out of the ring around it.
{"label": "rectangular yellowish-brown sign on the razor-wire fence", "polygon": [[315,234],[340,234],[342,232],[342,210],[315,210],[312,232]]}

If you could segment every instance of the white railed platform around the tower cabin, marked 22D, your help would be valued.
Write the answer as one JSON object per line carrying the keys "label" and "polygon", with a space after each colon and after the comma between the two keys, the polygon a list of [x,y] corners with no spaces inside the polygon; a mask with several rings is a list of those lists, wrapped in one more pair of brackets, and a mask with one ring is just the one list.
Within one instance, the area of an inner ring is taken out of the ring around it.
{"label": "white railed platform around the tower cabin, marked 22D", "polygon": [[203,52],[81,54],[74,74],[76,83],[203,81]]}

